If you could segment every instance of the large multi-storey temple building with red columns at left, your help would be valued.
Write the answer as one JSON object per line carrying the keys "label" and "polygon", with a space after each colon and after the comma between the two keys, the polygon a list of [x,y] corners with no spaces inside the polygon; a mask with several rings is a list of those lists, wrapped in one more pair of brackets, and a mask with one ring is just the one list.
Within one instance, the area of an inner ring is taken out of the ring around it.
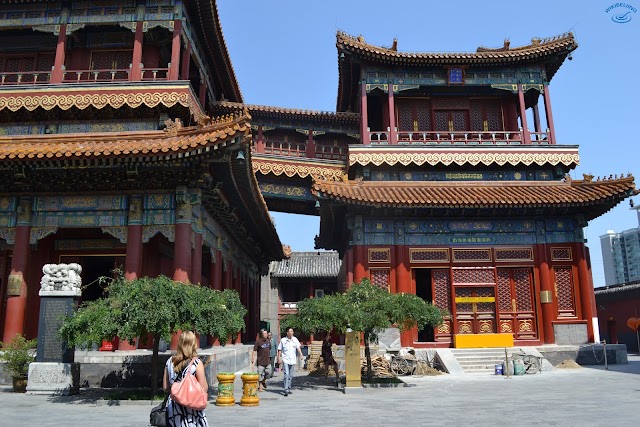
{"label": "large multi-storey temple building with red columns at left", "polygon": [[82,301],[114,267],[235,289],[255,336],[260,276],[284,252],[250,115],[208,115],[242,102],[215,3],[2,2],[0,41],[4,340],[37,335],[42,267],[71,262]]}

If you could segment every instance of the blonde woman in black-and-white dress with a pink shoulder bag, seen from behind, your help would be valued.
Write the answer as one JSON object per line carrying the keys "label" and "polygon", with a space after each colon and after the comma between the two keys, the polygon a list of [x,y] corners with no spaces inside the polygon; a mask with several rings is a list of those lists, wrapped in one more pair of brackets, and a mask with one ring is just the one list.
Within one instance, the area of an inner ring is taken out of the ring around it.
{"label": "blonde woman in black-and-white dress with a pink shoulder bag, seen from behind", "polygon": [[[162,379],[162,388],[165,392],[171,390],[171,385],[175,381],[180,381],[185,375],[195,375],[196,379],[207,391],[209,386],[204,375],[204,365],[198,359],[198,342],[196,334],[191,331],[184,331],[178,340],[178,349],[175,356],[167,360]],[[193,364],[191,361],[193,360]],[[187,372],[187,368],[189,372]],[[204,411],[198,411],[173,402],[171,396],[167,400],[167,418],[171,427],[208,427],[207,416]]]}

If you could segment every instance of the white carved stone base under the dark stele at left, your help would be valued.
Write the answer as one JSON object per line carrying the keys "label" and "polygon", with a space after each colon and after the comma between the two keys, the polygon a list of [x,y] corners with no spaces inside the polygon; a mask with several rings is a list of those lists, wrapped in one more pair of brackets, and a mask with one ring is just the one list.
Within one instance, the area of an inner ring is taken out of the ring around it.
{"label": "white carved stone base under the dark stele at left", "polygon": [[80,388],[80,364],[33,362],[28,378],[28,394],[76,394]]}

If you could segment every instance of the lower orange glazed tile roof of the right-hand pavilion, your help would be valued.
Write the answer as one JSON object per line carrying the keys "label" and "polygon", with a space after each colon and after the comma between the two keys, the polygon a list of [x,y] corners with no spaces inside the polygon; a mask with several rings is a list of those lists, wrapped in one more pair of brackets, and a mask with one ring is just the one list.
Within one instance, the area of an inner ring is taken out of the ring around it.
{"label": "lower orange glazed tile roof of the right-hand pavilion", "polygon": [[394,207],[544,207],[615,205],[637,194],[632,176],[585,181],[317,181],[313,191],[341,202]]}

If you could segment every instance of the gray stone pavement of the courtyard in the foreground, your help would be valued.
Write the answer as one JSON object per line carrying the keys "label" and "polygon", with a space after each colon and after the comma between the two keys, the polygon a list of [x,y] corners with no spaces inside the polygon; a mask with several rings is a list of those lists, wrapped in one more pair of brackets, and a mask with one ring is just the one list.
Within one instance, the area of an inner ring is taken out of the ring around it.
{"label": "gray stone pavement of the courtyard in the foreground", "polygon": [[[506,377],[404,377],[407,387],[343,394],[329,380],[298,372],[284,397],[282,377],[268,381],[260,406],[217,407],[211,426],[637,426],[640,357],[628,365],[584,367]],[[215,390],[212,390],[215,392]],[[145,426],[151,404],[97,405],[101,390],[69,397],[0,390],[1,426]],[[236,383],[236,399],[241,396]],[[213,395],[212,395],[213,396]]]}

